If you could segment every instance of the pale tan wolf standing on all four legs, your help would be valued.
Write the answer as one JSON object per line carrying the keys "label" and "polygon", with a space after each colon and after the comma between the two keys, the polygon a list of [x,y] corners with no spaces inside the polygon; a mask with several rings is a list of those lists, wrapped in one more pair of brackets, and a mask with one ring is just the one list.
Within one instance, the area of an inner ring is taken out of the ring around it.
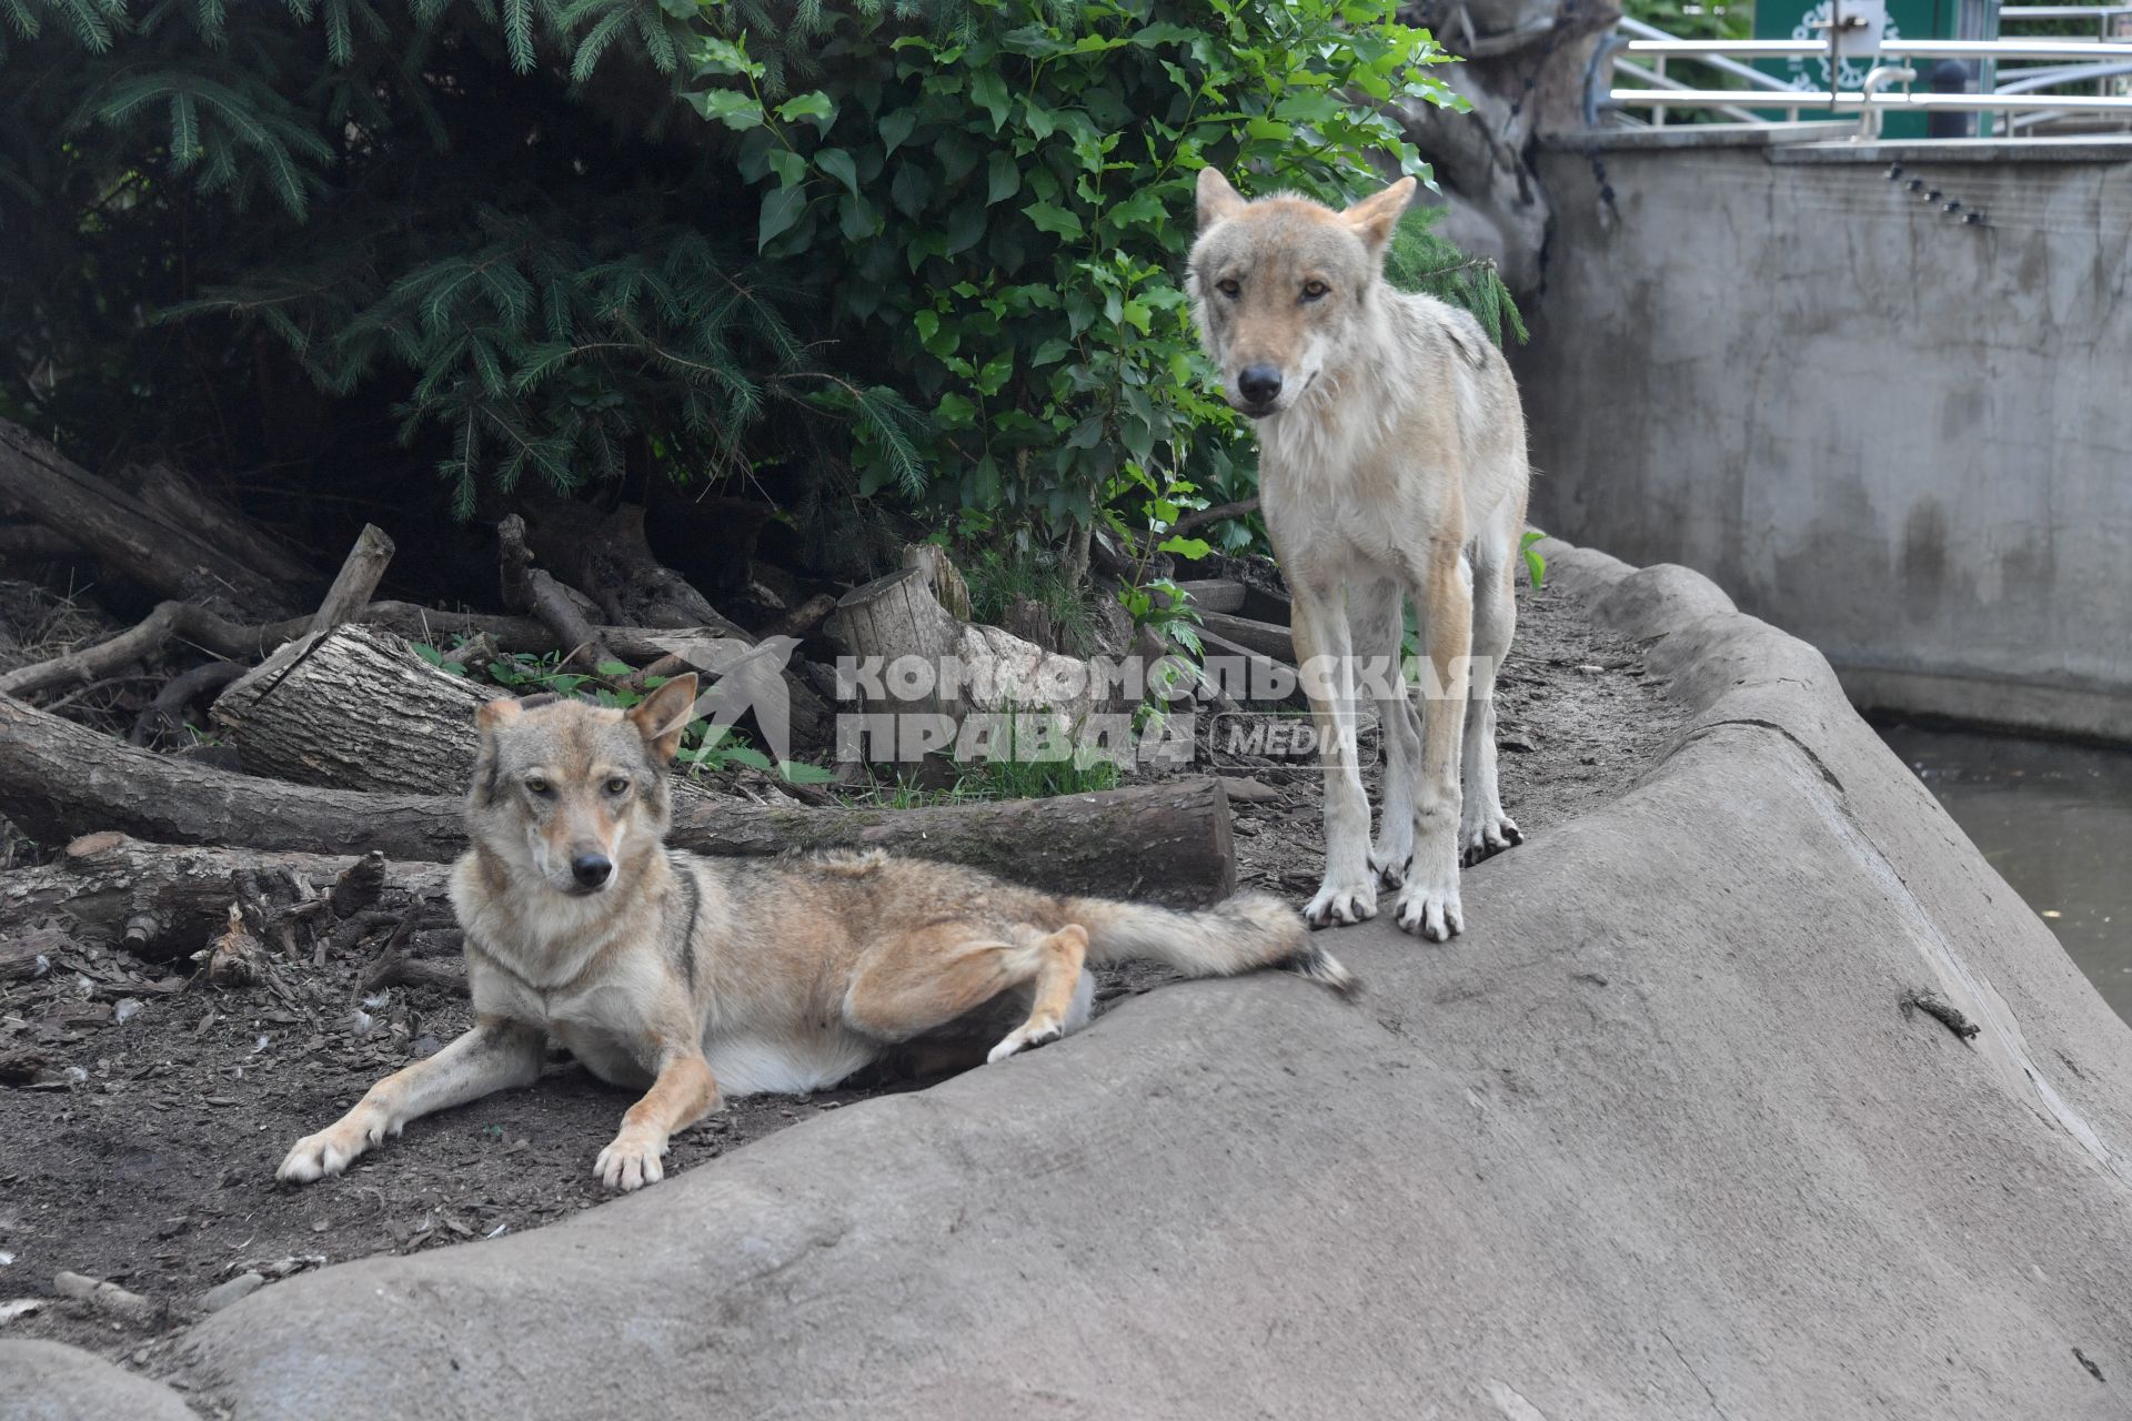
{"label": "pale tan wolf standing on all four legs", "polygon": [[[1520,842],[1495,780],[1495,671],[1518,620],[1529,469],[1518,386],[1480,322],[1384,281],[1411,196],[1405,177],[1339,213],[1245,202],[1207,168],[1188,290],[1230,405],[1258,420],[1260,507],[1326,746],[1326,878],[1303,916],[1373,916],[1382,873],[1403,886],[1399,927],[1443,942],[1465,925],[1458,865]],[[1435,686],[1418,718],[1401,680],[1373,677],[1386,765],[1371,844],[1356,656],[1396,665],[1403,597]]]}

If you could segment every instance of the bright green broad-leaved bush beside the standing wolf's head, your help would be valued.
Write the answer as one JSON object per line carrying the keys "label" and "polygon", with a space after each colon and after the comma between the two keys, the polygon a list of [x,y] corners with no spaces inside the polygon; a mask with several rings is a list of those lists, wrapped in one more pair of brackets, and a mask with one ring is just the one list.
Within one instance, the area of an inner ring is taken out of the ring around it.
{"label": "bright green broad-leaved bush beside the standing wolf's head", "polygon": [[1179,288],[1202,166],[1343,202],[1371,153],[1424,170],[1384,102],[1460,102],[1392,0],[861,4],[774,62],[706,17],[689,102],[740,136],[761,258],[823,273],[846,358],[930,413],[861,432],[861,492],[1023,535],[1249,492]]}

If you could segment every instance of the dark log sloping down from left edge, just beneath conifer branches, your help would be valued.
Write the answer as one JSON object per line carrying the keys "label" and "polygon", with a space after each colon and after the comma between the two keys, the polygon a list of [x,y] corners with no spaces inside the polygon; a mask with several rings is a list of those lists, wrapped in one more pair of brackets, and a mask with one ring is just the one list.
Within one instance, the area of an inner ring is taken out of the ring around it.
{"label": "dark log sloping down from left edge, just beneath conifer branches", "polygon": [[288,590],[49,443],[0,420],[0,509],[81,543],[100,562],[181,601],[220,601],[249,616],[290,611]]}

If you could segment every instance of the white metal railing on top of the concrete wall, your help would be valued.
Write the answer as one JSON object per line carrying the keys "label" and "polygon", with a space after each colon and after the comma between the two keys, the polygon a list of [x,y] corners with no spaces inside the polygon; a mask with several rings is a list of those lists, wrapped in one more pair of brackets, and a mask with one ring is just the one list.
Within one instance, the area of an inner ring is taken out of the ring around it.
{"label": "white metal railing on top of the concrete wall", "polygon": [[[1782,113],[1787,124],[1802,119],[1819,124],[1829,117],[1859,119],[1859,136],[1880,132],[1880,119],[1897,113],[1991,113],[2002,115],[2008,132],[2019,134],[2040,119],[2057,115],[2106,115],[2132,121],[2132,92],[2121,79],[2132,75],[2132,40],[2109,38],[2126,30],[2132,4],[2028,4],[2000,11],[2000,21],[2096,19],[2096,38],[1991,38],[1991,40],[1904,40],[1838,34],[1831,26],[1825,38],[1789,40],[1682,40],[1663,30],[1622,19],[1593,58],[1586,115],[1601,107],[1644,111],[1661,126],[1676,109],[1718,113],[1742,124],[1776,124],[1767,113]],[[1610,87],[1601,104],[1597,79],[1605,60],[1618,77],[1642,87]],[[1746,87],[1710,89],[1682,83],[1667,72],[1669,60],[1686,60],[1701,68],[1742,81]],[[1759,70],[1750,60],[1827,60],[1834,89],[1802,89],[1776,75]],[[1842,87],[1842,62],[1866,62],[1866,81]],[[1915,60],[1968,60],[1981,64],[1987,77],[1983,94],[1912,92]],[[2000,62],[2032,62],[1998,75]],[[2072,60],[2072,64],[2068,64]],[[2094,94],[2045,94],[2074,83],[2096,83]],[[2113,92],[2115,89],[2115,92]]]}

